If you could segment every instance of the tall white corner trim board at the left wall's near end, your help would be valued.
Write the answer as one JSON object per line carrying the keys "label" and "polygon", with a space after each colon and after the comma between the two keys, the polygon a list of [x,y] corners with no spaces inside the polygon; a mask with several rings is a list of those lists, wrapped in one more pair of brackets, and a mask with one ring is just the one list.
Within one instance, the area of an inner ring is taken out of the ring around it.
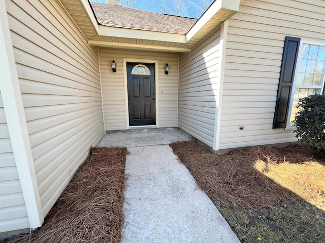
{"label": "tall white corner trim board at the left wall's near end", "polygon": [[0,0],[0,56],[2,57],[0,59],[0,91],[20,185],[24,196],[29,227],[34,229],[42,226],[44,217],[22,103],[5,0]]}

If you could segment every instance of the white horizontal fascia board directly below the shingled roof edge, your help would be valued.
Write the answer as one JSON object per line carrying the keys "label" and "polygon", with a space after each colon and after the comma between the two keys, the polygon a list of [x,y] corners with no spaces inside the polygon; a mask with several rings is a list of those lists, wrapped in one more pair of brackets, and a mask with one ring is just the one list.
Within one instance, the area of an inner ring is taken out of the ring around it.
{"label": "white horizontal fascia board directly below the shingled roof edge", "polygon": [[126,29],[110,26],[99,26],[99,35],[124,37],[124,38],[136,38],[136,39],[149,39],[151,41],[160,42],[177,42],[186,43],[185,34],[173,34],[164,32],[155,32],[148,30],[138,29]]}

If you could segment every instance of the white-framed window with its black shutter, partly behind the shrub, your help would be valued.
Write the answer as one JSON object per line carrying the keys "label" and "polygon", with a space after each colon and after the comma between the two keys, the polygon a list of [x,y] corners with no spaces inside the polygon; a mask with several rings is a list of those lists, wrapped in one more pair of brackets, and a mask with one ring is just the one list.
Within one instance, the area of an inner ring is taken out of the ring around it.
{"label": "white-framed window with its black shutter, partly behind the shrub", "polygon": [[285,38],[273,128],[294,128],[299,99],[323,92],[324,73],[325,43]]}

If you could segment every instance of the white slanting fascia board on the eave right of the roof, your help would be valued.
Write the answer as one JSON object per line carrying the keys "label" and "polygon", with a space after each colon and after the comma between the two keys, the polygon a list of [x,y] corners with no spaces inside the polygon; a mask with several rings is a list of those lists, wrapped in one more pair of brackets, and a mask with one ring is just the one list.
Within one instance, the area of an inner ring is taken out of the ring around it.
{"label": "white slanting fascia board on the eave right of the roof", "polygon": [[201,18],[192,26],[186,34],[186,42],[188,42],[196,33],[204,27],[205,24],[221,9],[239,11],[240,0],[217,0],[207,9]]}

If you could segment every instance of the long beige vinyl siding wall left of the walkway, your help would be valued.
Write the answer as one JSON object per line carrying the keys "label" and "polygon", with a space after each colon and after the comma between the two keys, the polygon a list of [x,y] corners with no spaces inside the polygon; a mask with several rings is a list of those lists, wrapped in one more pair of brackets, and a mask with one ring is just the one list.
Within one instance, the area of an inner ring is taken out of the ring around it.
{"label": "long beige vinyl siding wall left of the walkway", "polygon": [[6,7],[45,216],[104,135],[98,54],[57,1]]}

